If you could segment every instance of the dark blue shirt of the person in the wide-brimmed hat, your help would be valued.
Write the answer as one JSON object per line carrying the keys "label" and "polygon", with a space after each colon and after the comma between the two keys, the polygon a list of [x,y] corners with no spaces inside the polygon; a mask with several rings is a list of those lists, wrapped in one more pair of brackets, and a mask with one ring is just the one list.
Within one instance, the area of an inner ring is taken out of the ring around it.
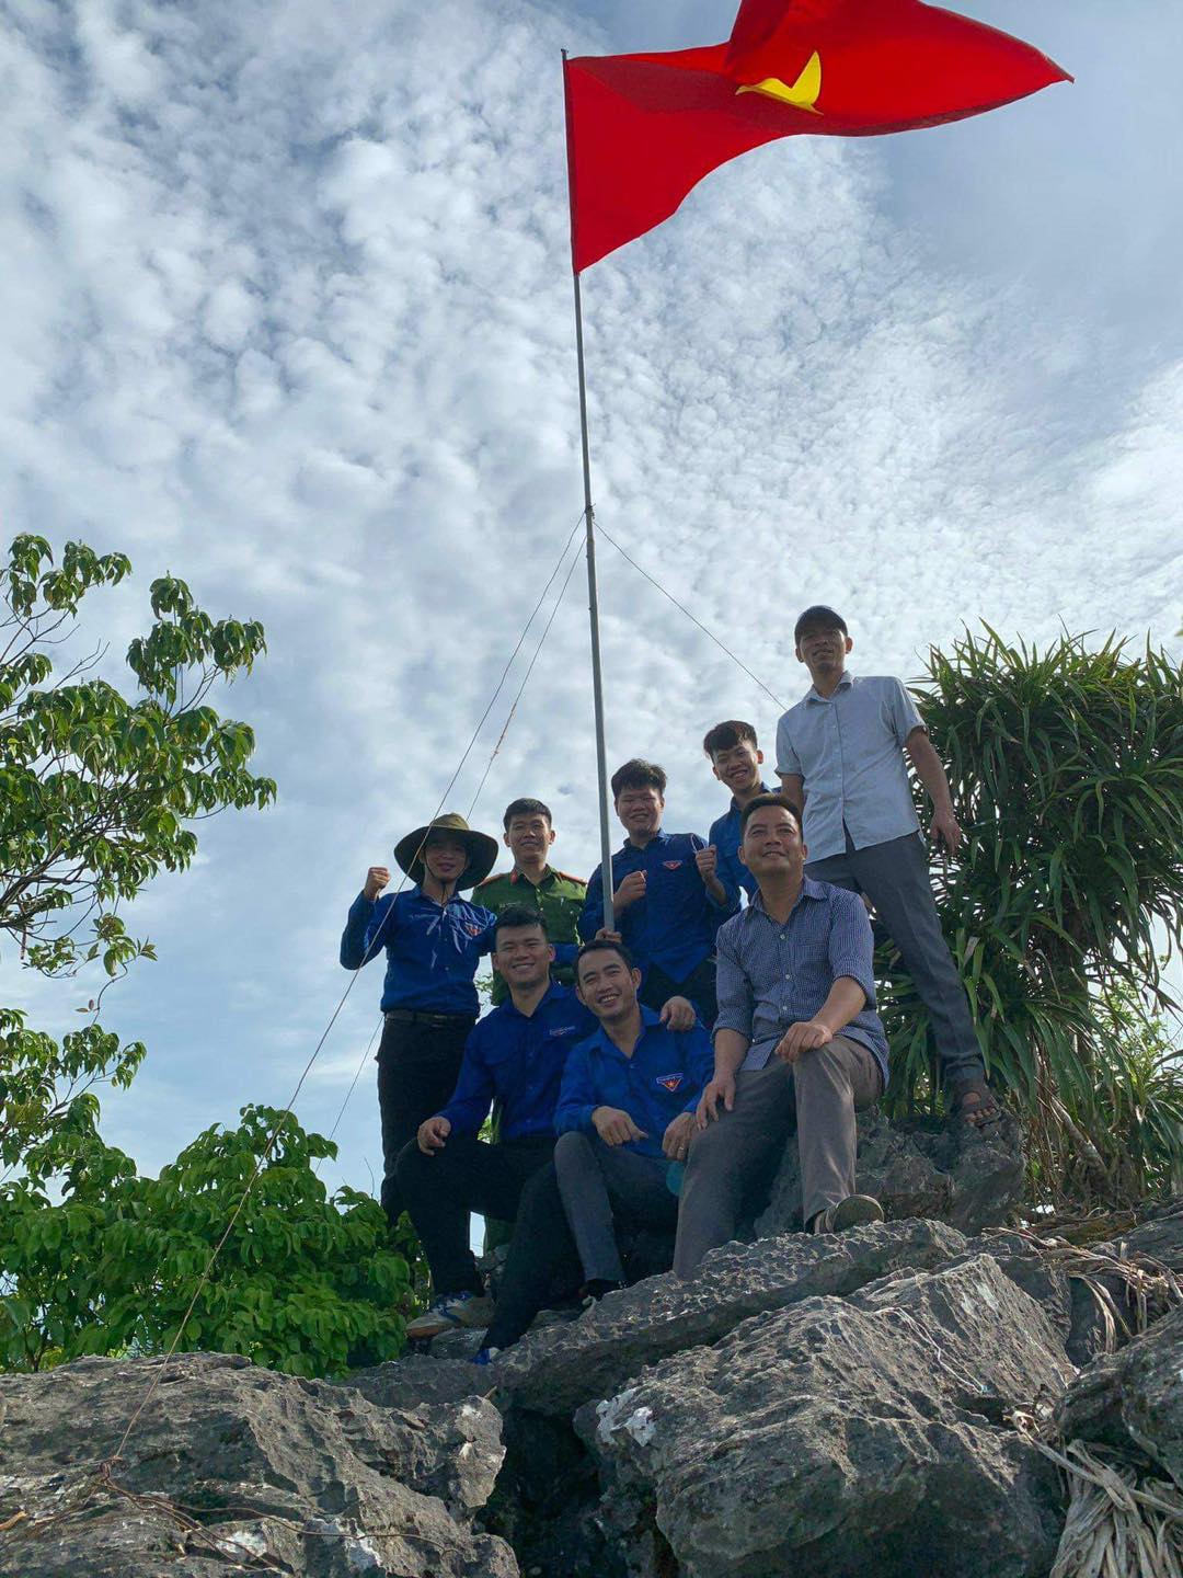
{"label": "dark blue shirt of the person in the wide-brimmed hat", "polygon": [[421,887],[371,903],[358,893],[341,936],[347,970],[369,964],[386,950],[382,1010],[418,1008],[423,1013],[470,1013],[480,1002],[473,977],[483,953],[494,945],[497,917],[454,893],[446,904]]}

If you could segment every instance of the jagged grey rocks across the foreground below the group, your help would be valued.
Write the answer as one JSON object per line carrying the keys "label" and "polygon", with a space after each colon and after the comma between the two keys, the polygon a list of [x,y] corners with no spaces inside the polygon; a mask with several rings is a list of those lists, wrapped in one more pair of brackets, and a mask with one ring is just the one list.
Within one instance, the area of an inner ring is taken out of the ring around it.
{"label": "jagged grey rocks across the foreground below the group", "polygon": [[[0,1376],[0,1578],[1049,1578],[1049,1452],[1183,1486],[1180,1264],[1178,1209],[1087,1250],[901,1220],[726,1245],[481,1370],[457,1332],[336,1382],[211,1354]],[[1131,1288],[1156,1324],[1076,1376]]]}

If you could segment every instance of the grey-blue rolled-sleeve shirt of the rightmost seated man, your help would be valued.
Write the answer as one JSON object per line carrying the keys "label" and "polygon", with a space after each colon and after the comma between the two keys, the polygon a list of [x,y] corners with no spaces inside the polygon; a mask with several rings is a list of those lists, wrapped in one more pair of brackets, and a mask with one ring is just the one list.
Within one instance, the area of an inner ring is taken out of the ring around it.
{"label": "grey-blue rolled-sleeve shirt of the rightmost seated man", "polygon": [[763,1068],[790,1024],[822,1011],[830,988],[849,975],[866,993],[864,1007],[842,1035],[874,1053],[886,1089],[888,1045],[875,1010],[874,942],[858,893],[803,877],[781,926],[757,893],[735,920],[719,928],[719,1030],[751,1041],[745,1068]]}

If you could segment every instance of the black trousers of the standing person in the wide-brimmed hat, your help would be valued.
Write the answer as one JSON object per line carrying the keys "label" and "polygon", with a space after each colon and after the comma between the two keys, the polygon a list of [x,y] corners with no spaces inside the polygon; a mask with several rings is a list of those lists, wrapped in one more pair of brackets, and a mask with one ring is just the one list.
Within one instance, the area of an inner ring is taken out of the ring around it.
{"label": "black trousers of the standing person in the wide-brimmed hat", "polygon": [[382,1027],[377,1057],[382,1209],[391,1228],[404,1209],[394,1174],[399,1152],[415,1138],[424,1117],[434,1117],[448,1105],[475,1023],[475,1018],[456,1018],[448,1024],[415,1024],[386,1016]]}

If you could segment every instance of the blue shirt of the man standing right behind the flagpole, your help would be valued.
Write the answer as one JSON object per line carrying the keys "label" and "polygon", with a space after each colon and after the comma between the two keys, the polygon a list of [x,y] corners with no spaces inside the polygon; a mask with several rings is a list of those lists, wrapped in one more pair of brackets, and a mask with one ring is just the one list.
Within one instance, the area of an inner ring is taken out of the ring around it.
{"label": "blue shirt of the man standing right behind the flagpole", "polygon": [[[658,833],[644,849],[626,841],[612,855],[612,885],[629,871],[645,873],[645,896],[617,917],[617,929],[640,970],[658,964],[675,982],[685,982],[715,952],[719,922],[740,907],[740,895],[719,873],[726,896],[721,904],[707,892],[694,855],[705,849],[697,833]],[[604,925],[603,868],[587,884],[587,903],[579,917],[579,936],[595,937]]]}

